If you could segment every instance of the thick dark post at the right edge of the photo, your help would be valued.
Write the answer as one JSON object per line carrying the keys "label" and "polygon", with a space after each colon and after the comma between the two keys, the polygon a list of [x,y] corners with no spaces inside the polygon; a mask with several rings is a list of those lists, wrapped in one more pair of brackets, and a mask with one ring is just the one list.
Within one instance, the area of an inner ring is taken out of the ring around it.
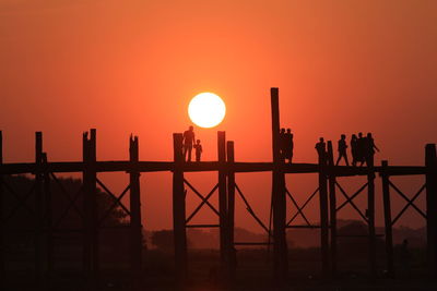
{"label": "thick dark post at the right edge of the photo", "polygon": [[425,147],[426,167],[426,239],[428,268],[432,277],[437,271],[437,158],[436,145]]}

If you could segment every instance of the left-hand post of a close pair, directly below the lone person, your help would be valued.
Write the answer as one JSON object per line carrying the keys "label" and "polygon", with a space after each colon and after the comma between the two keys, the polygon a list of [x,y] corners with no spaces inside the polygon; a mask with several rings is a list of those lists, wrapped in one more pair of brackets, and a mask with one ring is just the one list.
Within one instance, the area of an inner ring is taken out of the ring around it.
{"label": "left-hand post of a close pair, directly below the lone person", "polygon": [[328,185],[327,185],[327,153],[319,155],[319,204],[320,204],[320,253],[321,271],[324,278],[329,276],[329,225],[328,225]]}

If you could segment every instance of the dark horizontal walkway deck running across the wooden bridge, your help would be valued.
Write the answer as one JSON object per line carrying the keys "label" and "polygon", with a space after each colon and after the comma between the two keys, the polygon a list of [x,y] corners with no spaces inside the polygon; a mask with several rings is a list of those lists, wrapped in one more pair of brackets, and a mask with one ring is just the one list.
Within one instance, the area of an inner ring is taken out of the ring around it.
{"label": "dark horizontal walkway deck running across the wooden bridge", "polygon": [[[22,174],[34,173],[36,171],[35,162],[19,162],[19,163],[2,163],[0,165],[0,174]],[[85,165],[82,161],[51,161],[44,165],[44,171],[48,172],[81,172]],[[97,161],[97,172],[158,172],[174,171],[175,165],[173,161]],[[223,169],[224,168],[224,169]],[[182,165],[184,172],[200,172],[200,171],[232,171],[232,172],[267,172],[273,170],[272,162],[234,162],[218,163],[217,161],[200,161],[186,162]],[[285,173],[317,173],[319,166],[317,163],[284,163],[281,165],[281,170]],[[335,166],[327,168],[327,174],[333,171],[336,177],[349,175],[367,175],[367,167],[347,167]],[[376,172],[381,172],[381,167],[375,167]],[[425,174],[426,168],[421,166],[389,166],[385,172],[388,175],[410,175]]]}

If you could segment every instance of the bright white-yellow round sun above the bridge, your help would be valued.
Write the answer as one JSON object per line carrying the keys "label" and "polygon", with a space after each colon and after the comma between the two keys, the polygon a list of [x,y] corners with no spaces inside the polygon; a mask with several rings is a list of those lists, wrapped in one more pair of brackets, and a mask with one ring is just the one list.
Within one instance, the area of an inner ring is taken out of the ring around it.
{"label": "bright white-yellow round sun above the bridge", "polygon": [[191,121],[201,128],[218,125],[226,114],[225,102],[214,93],[200,93],[188,105],[188,116]]}

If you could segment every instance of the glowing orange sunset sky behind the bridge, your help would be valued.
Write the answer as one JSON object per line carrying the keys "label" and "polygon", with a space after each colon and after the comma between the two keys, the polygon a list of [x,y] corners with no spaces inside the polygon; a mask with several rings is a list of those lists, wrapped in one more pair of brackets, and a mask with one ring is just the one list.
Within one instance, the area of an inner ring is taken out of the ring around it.
{"label": "glowing orange sunset sky behind the bridge", "polygon": [[[237,160],[270,160],[276,86],[296,161],[316,161],[321,135],[371,131],[378,163],[422,165],[425,143],[437,142],[436,19],[433,0],[2,0],[4,159],[32,160],[43,131],[49,159],[79,160],[81,133],[96,128],[98,159],[126,159],[134,133],[141,159],[169,160],[190,98],[209,90],[227,116],[196,129],[204,158],[216,158],[225,130]],[[269,175],[240,179],[256,205],[269,202]],[[169,227],[170,175],[143,180],[149,226]]]}

